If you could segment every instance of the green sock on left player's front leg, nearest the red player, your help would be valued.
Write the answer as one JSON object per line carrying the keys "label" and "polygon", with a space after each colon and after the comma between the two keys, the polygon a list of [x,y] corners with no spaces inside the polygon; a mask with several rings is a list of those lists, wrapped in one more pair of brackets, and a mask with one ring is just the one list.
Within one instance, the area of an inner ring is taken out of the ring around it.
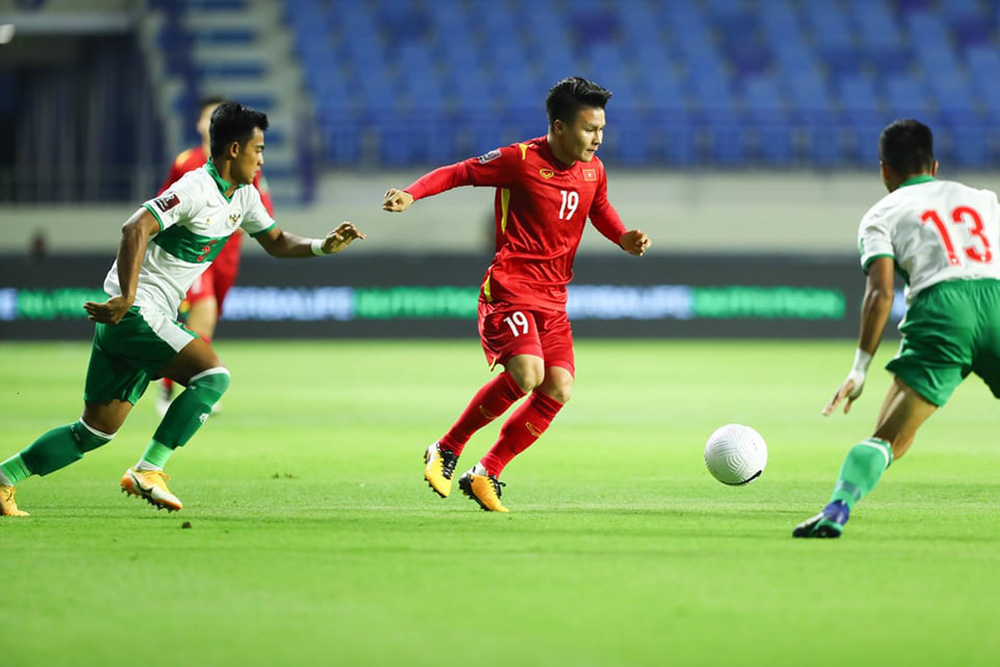
{"label": "green sock on left player's front leg, nearest the red player", "polygon": [[171,402],[142,461],[162,468],[173,450],[183,446],[201,428],[228,388],[229,371],[221,366],[191,378],[187,389]]}

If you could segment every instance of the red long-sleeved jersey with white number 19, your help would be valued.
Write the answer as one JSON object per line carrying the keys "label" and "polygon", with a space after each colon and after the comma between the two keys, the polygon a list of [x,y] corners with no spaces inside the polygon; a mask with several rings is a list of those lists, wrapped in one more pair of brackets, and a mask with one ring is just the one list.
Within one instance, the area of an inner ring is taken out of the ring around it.
{"label": "red long-sleeved jersey with white number 19", "polygon": [[627,231],[597,156],[565,165],[545,137],[435,169],[406,191],[417,200],[460,185],[497,189],[496,254],[482,286],[488,302],[565,309],[587,218],[615,245]]}

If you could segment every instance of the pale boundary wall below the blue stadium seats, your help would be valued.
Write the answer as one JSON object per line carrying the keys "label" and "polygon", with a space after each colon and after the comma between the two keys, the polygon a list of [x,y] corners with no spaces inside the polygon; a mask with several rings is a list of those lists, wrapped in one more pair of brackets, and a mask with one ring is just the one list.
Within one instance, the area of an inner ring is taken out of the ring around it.
{"label": "pale boundary wall below the blue stadium seats", "polygon": [[[468,253],[489,247],[489,188],[443,193],[401,215],[381,211],[387,188],[405,187],[421,173],[328,174],[312,205],[279,207],[277,219],[282,227],[311,236],[352,220],[369,235],[368,252]],[[942,171],[939,176],[1000,189],[1000,173]],[[856,252],[858,221],[885,189],[874,167],[871,173],[720,174],[629,172],[612,166],[609,192],[626,225],[652,237],[654,252],[830,255]],[[81,209],[0,204],[0,253],[23,253],[35,234],[44,233],[53,253],[113,255],[122,222],[140,203]],[[244,248],[262,252],[255,243]],[[589,228],[581,252],[607,250],[604,238]]]}

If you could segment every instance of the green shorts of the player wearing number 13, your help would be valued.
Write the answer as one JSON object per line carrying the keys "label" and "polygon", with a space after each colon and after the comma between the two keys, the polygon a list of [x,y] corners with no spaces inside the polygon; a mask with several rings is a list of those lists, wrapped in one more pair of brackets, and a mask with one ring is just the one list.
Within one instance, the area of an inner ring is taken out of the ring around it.
{"label": "green shorts of the player wearing number 13", "polygon": [[975,373],[1000,398],[1000,280],[952,280],[917,295],[886,369],[934,405]]}

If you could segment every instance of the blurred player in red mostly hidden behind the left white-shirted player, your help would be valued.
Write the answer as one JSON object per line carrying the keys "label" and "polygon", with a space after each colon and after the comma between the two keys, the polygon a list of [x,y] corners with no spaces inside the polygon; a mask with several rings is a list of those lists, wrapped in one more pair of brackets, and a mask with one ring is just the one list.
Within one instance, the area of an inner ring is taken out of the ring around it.
{"label": "blurred player in red mostly hidden behind the left white-shirted player", "polygon": [[[163,185],[160,186],[158,194],[163,194],[166,190],[180,180],[181,176],[203,167],[208,162],[211,153],[209,149],[208,126],[212,120],[212,112],[225,102],[223,97],[206,97],[201,101],[201,114],[198,117],[198,134],[201,136],[201,145],[189,148],[182,152],[170,166],[170,173],[167,175]],[[271,192],[267,188],[267,179],[262,172],[257,172],[254,176],[253,186],[260,192],[260,200],[267,209],[268,214],[274,217],[274,202],[271,200]],[[203,273],[181,303],[181,314],[184,316],[184,323],[191,331],[200,336],[206,343],[211,343],[215,338],[215,325],[222,314],[222,305],[226,301],[226,294],[236,282],[236,274],[240,270],[240,247],[243,245],[243,234],[237,232],[229,237],[222,252],[215,258],[215,261]],[[160,392],[156,396],[156,410],[160,416],[166,414],[170,407],[170,400],[173,397],[174,383],[169,378],[164,378],[160,386]],[[213,408],[216,412],[219,406]]]}

